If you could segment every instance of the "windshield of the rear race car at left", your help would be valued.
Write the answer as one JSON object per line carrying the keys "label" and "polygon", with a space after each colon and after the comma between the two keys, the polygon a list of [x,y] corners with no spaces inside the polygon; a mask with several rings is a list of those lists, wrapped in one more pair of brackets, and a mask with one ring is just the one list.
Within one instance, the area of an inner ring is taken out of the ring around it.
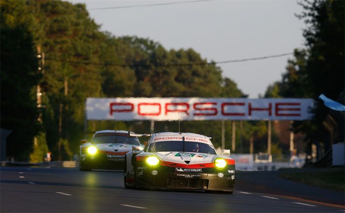
{"label": "windshield of the rear race car at left", "polygon": [[100,133],[95,135],[94,144],[98,143],[124,143],[131,145],[140,145],[138,138],[130,138],[127,134]]}

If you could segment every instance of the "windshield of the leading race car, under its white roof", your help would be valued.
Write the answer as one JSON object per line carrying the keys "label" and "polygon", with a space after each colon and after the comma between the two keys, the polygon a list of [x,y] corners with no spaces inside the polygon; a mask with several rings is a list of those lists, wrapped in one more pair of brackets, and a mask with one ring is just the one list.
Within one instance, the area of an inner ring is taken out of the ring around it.
{"label": "windshield of the leading race car, under its white roof", "polygon": [[164,141],[154,142],[150,144],[149,152],[160,151],[184,151],[184,152],[200,152],[207,154],[216,154],[214,148],[203,142],[186,142],[186,141]]}

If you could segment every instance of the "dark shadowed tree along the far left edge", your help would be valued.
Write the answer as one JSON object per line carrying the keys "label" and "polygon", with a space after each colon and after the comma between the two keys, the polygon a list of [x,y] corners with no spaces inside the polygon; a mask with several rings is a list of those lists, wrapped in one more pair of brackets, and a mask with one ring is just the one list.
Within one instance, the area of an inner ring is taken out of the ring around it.
{"label": "dark shadowed tree along the far left edge", "polygon": [[33,19],[30,14],[21,15],[24,7],[22,1],[0,2],[1,128],[12,130],[7,137],[7,155],[18,160],[29,159],[34,136],[40,129],[35,88],[41,75],[30,32]]}

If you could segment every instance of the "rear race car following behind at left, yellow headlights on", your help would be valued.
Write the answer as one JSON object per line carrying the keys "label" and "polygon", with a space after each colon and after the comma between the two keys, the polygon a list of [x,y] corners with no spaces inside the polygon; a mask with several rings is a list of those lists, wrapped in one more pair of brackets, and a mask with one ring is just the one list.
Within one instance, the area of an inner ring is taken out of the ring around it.
{"label": "rear race car following behind at left, yellow headlights on", "polygon": [[[134,133],[132,133],[134,134]],[[97,131],[91,142],[80,145],[79,170],[123,169],[125,154],[133,148],[142,150],[137,137],[128,137],[128,131]]]}

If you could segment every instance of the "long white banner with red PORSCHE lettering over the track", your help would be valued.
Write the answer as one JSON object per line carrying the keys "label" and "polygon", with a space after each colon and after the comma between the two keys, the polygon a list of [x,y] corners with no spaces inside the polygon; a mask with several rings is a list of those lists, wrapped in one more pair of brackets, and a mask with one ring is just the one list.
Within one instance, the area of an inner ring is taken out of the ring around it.
{"label": "long white banner with red PORSCHE lettering over the track", "polygon": [[308,120],[312,99],[88,98],[88,120]]}

